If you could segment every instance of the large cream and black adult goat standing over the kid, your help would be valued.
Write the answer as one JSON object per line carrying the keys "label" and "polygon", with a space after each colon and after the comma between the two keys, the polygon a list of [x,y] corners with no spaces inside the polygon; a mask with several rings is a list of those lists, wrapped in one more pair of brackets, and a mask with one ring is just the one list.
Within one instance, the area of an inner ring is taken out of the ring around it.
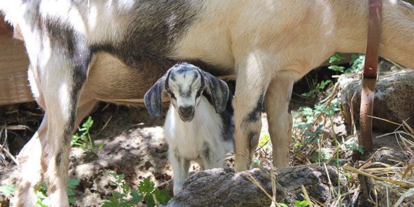
{"label": "large cream and black adult goat standing over the kid", "polygon": [[[293,82],[334,52],[364,52],[367,0],[0,0],[30,58],[30,86],[46,110],[20,155],[17,206],[44,175],[67,206],[70,135],[97,100],[142,101],[166,68],[188,61],[235,76],[237,171],[248,168],[268,114],[273,163],[287,166]],[[384,0],[380,56],[414,68],[414,8]],[[30,153],[28,153],[30,151]]]}

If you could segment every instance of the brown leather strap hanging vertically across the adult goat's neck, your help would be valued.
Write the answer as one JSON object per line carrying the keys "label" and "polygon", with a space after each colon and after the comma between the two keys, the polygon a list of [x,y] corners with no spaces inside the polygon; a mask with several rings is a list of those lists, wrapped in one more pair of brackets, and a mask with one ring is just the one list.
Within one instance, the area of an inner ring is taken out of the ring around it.
{"label": "brown leather strap hanging vertically across the adult goat's neck", "polygon": [[378,46],[381,34],[381,0],[368,0],[368,38],[366,42],[365,65],[362,79],[361,110],[359,124],[361,126],[362,144],[366,151],[373,150],[373,103],[375,82],[377,81]]}

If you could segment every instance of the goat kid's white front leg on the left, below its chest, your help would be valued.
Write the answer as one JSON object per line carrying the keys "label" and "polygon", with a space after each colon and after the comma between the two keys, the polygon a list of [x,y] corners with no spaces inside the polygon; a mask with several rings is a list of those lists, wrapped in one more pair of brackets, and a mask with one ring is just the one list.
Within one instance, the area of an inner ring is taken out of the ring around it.
{"label": "goat kid's white front leg on the left, below its chest", "polygon": [[190,161],[184,157],[180,157],[177,152],[168,151],[168,159],[172,167],[173,173],[173,188],[174,195],[177,195],[183,188],[184,181],[188,176],[188,169],[190,168]]}

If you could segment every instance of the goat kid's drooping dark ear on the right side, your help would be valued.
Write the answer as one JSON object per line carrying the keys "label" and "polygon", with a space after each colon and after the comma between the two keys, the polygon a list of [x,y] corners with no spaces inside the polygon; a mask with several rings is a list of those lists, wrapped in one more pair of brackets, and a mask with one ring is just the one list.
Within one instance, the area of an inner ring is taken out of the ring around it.
{"label": "goat kid's drooping dark ear on the right side", "polygon": [[216,112],[224,112],[226,110],[229,93],[227,83],[210,75],[208,72],[203,71],[203,76],[204,81],[206,81],[206,90],[211,96],[211,101],[213,101]]}

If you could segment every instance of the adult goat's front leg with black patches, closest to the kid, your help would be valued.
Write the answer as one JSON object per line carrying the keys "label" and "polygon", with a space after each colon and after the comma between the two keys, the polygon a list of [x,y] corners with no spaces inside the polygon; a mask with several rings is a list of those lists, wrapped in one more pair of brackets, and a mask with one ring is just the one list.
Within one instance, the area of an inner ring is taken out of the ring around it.
{"label": "adult goat's front leg with black patches, closest to the kid", "polygon": [[[255,56],[239,63],[233,107],[235,109],[235,171],[250,168],[253,153],[262,129],[264,95],[270,82],[270,72],[261,68]],[[266,74],[267,73],[267,74]]]}

